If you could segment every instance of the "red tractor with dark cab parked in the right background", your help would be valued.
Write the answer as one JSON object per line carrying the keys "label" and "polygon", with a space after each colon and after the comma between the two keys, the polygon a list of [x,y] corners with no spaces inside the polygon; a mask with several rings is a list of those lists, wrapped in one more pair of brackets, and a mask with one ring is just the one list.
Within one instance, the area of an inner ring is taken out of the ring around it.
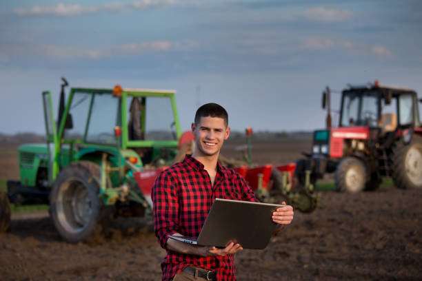
{"label": "red tractor with dark cab parked in the right background", "polygon": [[[297,161],[295,176],[310,182],[335,173],[337,191],[374,190],[382,178],[401,189],[422,188],[422,124],[417,94],[405,87],[349,86],[341,92],[339,127],[314,132],[312,152]],[[323,108],[330,89],[323,92]],[[328,102],[328,107],[329,106]]]}

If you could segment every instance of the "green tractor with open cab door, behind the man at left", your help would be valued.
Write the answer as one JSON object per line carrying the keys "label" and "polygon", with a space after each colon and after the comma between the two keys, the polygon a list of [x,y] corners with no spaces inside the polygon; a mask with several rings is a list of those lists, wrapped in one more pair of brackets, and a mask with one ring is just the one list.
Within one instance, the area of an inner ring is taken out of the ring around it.
{"label": "green tractor with open cab door, behind the man at left", "polygon": [[[19,147],[21,180],[8,181],[8,198],[50,204],[60,236],[80,242],[116,215],[152,214],[151,187],[173,162],[181,130],[172,90],[76,87],[65,102],[62,80],[58,121],[43,92],[47,143]],[[8,225],[10,207],[0,215]]]}

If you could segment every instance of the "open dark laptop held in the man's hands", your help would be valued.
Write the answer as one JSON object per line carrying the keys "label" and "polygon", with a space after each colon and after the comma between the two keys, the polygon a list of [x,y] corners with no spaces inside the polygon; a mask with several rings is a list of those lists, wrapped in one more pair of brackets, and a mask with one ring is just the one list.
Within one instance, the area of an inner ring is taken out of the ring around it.
{"label": "open dark laptop held in the man's hands", "polygon": [[272,212],[279,207],[284,206],[216,198],[198,238],[169,237],[200,246],[224,248],[234,242],[243,249],[264,249],[277,227],[272,221]]}

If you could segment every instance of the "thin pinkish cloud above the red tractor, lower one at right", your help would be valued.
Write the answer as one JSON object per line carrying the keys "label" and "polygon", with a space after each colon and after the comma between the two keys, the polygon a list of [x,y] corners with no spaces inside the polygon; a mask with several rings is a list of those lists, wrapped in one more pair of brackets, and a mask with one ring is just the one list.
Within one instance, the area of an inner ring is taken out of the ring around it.
{"label": "thin pinkish cloud above the red tractor, lower one at right", "polygon": [[340,48],[352,52],[365,52],[377,56],[391,56],[392,52],[381,45],[356,44],[346,40],[336,40],[323,37],[310,37],[303,40],[302,48],[306,50],[329,50]]}

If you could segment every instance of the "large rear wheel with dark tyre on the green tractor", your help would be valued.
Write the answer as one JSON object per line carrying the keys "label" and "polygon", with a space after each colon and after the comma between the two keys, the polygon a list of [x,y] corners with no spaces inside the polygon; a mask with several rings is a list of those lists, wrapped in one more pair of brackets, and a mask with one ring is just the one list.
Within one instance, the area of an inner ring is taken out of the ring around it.
{"label": "large rear wheel with dark tyre on the green tractor", "polygon": [[92,242],[107,230],[113,207],[99,198],[101,168],[80,161],[64,168],[52,187],[50,214],[60,236],[68,242]]}

